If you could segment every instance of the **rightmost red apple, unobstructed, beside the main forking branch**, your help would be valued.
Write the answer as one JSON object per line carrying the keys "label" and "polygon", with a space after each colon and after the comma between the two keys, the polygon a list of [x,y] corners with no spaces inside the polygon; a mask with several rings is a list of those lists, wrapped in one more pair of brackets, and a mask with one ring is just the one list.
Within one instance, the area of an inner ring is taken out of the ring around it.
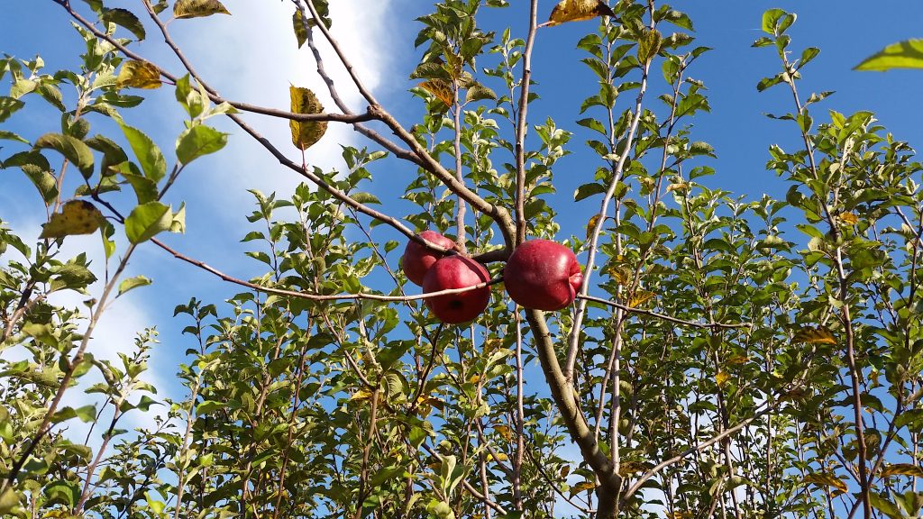
{"label": "rightmost red apple, unobstructed, beside the main forking branch", "polygon": [[521,307],[559,310],[574,302],[583,272],[574,253],[542,239],[516,247],[503,271],[507,293]]}

